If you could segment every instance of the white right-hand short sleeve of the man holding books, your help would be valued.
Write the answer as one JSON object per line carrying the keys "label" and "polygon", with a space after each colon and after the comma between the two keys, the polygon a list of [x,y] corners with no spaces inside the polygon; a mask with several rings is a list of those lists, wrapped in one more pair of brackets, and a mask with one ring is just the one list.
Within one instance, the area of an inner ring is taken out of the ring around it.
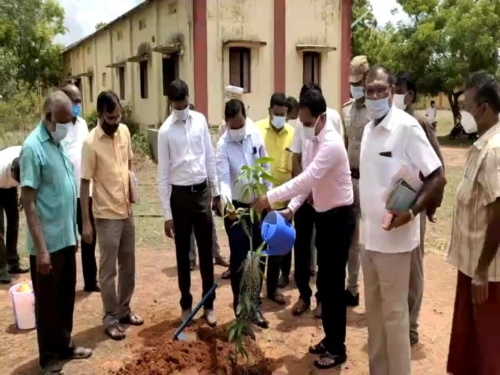
{"label": "white right-hand short sleeve of the man holding books", "polygon": [[441,160],[428,141],[422,126],[419,124],[407,126],[405,142],[406,156],[422,172],[424,177],[442,167]]}

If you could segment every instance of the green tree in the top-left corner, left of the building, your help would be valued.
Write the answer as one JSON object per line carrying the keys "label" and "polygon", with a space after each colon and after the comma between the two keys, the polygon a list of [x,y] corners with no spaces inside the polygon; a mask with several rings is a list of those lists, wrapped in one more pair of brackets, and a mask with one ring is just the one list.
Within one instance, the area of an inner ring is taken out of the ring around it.
{"label": "green tree in the top-left corner, left of the building", "polygon": [[25,83],[58,84],[62,46],[53,43],[65,33],[64,10],[56,0],[0,1],[0,93]]}

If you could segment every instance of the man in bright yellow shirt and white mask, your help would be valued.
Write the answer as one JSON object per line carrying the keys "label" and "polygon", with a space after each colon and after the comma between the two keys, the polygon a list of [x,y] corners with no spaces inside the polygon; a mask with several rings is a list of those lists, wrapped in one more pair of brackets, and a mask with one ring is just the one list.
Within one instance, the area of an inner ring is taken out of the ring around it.
{"label": "man in bright yellow shirt and white mask", "polygon": [[[267,154],[269,158],[272,158],[270,163],[271,174],[276,179],[276,186],[292,179],[292,151],[290,147],[292,146],[294,128],[286,123],[286,119],[287,98],[285,94],[275,92],[272,94],[269,103],[269,117],[256,122],[256,126],[262,132]],[[286,208],[287,204],[288,202],[276,203],[272,208],[281,210]],[[291,219],[291,217],[288,217],[288,219]],[[292,253],[290,252],[288,256],[291,257]],[[282,261],[282,256],[269,256],[266,276],[267,298],[280,305],[285,304],[285,297],[278,292],[278,278]],[[291,261],[288,264],[291,265]],[[289,274],[290,269],[288,269]]]}

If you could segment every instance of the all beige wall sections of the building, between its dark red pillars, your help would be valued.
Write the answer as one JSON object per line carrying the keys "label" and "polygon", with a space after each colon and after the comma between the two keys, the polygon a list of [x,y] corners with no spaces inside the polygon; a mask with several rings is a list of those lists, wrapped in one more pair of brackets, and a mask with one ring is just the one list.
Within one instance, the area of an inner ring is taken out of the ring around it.
{"label": "all beige wall sections of the building, between its dark red pillars", "polygon": [[[121,63],[124,101],[131,103],[135,120],[143,125],[163,122],[167,115],[163,54],[153,50],[175,43],[183,46],[178,56],[179,78],[188,83],[191,100],[197,105],[192,1],[145,3],[63,53],[64,77],[80,76],[84,113],[94,110],[102,90],[119,94],[117,64]],[[269,98],[274,92],[274,1],[208,0],[206,15],[208,123],[219,124],[223,117],[224,88],[230,84],[229,47],[224,47],[224,43],[230,41],[233,47],[251,50],[250,92],[243,95],[248,115],[255,121],[267,117]],[[285,94],[298,97],[303,85],[303,56],[297,52],[297,44],[335,47],[336,51],[321,53],[320,84],[328,106],[340,108],[341,26],[340,0],[287,0]],[[126,62],[138,55],[147,58],[147,98],[141,98],[140,63]],[[111,64],[115,65],[110,67]]]}

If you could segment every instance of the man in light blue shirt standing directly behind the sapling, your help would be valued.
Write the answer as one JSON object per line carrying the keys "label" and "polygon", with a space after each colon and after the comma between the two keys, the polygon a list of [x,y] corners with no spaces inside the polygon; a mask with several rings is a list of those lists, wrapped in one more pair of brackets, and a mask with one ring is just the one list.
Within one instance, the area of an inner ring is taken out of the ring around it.
{"label": "man in light blue shirt standing directly behind the sapling", "polygon": [[[240,179],[242,167],[253,166],[259,158],[267,156],[264,140],[260,130],[253,124],[247,122],[247,113],[244,104],[239,99],[231,99],[224,108],[224,117],[228,129],[217,142],[217,176],[220,183],[222,199],[226,203],[232,203],[235,209],[249,208],[255,199],[251,194],[244,194],[244,186],[247,181]],[[269,165],[267,165],[269,167]],[[267,188],[272,188],[270,183],[265,182]],[[250,249],[250,239],[244,232],[241,224],[235,224],[236,217],[233,212],[226,209],[227,216],[224,217],[224,227],[228,235],[229,258],[231,269],[231,289],[233,290],[233,308],[236,312],[240,297],[240,281],[242,277],[241,265],[247,258]],[[248,217],[245,224],[252,233],[252,251],[256,251],[263,239],[260,236],[260,225],[258,220],[250,222]],[[262,272],[265,270],[265,258],[260,263]],[[262,279],[261,279],[262,284]],[[261,285],[262,286],[262,285]],[[260,288],[256,291],[256,299],[259,308],[253,322],[262,328],[267,328],[269,322],[260,313]]]}

